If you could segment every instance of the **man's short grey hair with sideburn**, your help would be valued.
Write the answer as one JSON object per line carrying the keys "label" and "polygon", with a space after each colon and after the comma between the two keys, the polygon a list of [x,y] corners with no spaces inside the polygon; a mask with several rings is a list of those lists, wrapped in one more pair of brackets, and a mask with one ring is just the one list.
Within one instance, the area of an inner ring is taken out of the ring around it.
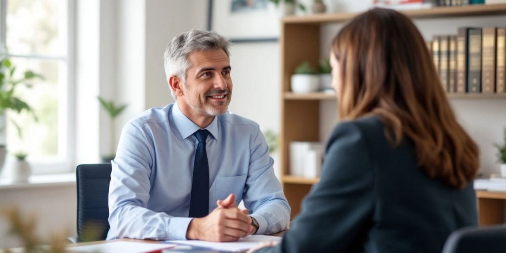
{"label": "man's short grey hair with sideburn", "polygon": [[[185,83],[186,71],[191,67],[188,61],[190,53],[223,49],[227,57],[230,57],[229,48],[230,41],[215,31],[193,29],[181,33],[168,43],[163,54],[167,81],[171,75],[176,75]],[[176,99],[176,94],[172,89],[171,94]]]}

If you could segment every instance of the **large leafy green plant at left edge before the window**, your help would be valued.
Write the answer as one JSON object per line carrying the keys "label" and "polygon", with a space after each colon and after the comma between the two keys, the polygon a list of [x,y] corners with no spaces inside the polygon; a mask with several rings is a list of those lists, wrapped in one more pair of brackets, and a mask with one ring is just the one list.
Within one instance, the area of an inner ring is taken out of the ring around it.
{"label": "large leafy green plant at left edge before the window", "polygon": [[0,170],[2,170],[7,153],[6,112],[9,110],[15,113],[26,111],[31,113],[36,119],[32,108],[16,95],[16,89],[19,85],[31,88],[31,85],[28,83],[29,80],[35,78],[44,79],[43,76],[31,70],[26,70],[19,78],[14,77],[15,73],[16,67],[11,64],[11,61],[5,57],[0,58]]}

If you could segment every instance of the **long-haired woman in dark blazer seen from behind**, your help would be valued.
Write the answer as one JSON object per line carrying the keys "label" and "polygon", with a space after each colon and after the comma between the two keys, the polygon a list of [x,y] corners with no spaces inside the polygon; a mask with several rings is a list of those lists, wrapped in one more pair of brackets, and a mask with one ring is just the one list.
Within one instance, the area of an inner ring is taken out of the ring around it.
{"label": "long-haired woman in dark blazer seen from behind", "polygon": [[423,37],[399,12],[372,9],[335,36],[330,59],[343,122],[301,214],[258,252],[441,252],[453,230],[477,226],[478,147]]}

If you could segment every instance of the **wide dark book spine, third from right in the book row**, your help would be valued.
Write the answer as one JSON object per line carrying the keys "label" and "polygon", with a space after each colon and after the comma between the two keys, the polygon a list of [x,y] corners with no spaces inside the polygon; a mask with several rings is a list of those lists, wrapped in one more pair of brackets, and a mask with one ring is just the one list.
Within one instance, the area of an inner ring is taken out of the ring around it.
{"label": "wide dark book spine, third from right in the book row", "polygon": [[468,41],[468,92],[481,93],[481,29],[469,29]]}

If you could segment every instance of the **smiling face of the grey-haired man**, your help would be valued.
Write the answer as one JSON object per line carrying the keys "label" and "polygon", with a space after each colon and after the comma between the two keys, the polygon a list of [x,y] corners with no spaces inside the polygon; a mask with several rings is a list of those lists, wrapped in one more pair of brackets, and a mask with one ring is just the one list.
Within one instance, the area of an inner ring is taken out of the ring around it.
{"label": "smiling face of the grey-haired man", "polygon": [[188,56],[190,68],[183,85],[184,102],[205,116],[227,111],[232,97],[230,62],[222,49],[196,51]]}

